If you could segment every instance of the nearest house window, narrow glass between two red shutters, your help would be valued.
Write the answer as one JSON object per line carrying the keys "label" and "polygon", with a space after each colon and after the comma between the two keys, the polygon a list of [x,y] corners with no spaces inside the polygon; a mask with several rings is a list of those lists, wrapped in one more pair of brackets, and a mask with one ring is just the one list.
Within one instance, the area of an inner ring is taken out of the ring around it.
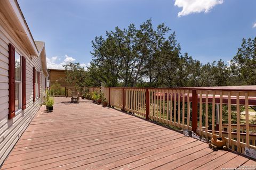
{"label": "nearest house window, narrow glass between two red shutters", "polygon": [[21,67],[21,56],[15,52],[15,71],[14,71],[14,78],[15,78],[15,112],[21,109],[22,104],[22,67]]}

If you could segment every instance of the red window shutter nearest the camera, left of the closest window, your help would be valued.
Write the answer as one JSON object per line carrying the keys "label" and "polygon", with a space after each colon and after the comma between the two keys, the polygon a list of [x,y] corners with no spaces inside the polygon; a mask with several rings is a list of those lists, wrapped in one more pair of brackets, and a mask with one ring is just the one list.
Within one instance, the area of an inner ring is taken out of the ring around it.
{"label": "red window shutter nearest the camera, left of the closest window", "polygon": [[15,48],[9,44],[9,120],[15,116]]}

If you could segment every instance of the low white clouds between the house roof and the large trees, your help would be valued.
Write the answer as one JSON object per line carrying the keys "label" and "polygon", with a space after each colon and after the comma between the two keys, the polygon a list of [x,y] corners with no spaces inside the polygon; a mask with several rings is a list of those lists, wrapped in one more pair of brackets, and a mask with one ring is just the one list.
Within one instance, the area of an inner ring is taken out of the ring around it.
{"label": "low white clouds between the house roof and the large trees", "polygon": [[[76,59],[73,57],[69,57],[68,55],[65,55],[64,60],[63,57],[59,56],[54,56],[51,58],[46,57],[47,69],[64,70],[64,67],[62,65],[68,64],[70,62],[76,62]],[[90,63],[81,63],[80,65],[84,66],[85,70],[87,70],[86,66],[90,66]]]}

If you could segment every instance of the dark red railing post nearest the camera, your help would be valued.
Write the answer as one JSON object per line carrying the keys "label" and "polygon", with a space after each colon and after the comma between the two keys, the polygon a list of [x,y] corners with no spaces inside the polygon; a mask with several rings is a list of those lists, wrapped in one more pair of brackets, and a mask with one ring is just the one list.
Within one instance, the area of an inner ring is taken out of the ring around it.
{"label": "dark red railing post nearest the camera", "polygon": [[192,90],[192,131],[197,130],[197,92]]}

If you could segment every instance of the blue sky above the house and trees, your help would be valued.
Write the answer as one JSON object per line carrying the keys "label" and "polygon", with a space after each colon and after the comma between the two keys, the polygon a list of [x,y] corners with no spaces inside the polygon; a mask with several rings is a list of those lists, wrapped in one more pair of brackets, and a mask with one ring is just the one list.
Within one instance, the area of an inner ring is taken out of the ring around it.
{"label": "blue sky above the house and trees", "polygon": [[[256,36],[254,0],[18,0],[48,67],[90,63],[91,41],[116,26],[151,18],[175,31],[182,53],[203,63],[229,61],[242,38]],[[254,25],[255,24],[255,25]],[[255,26],[255,27],[253,27]]]}

